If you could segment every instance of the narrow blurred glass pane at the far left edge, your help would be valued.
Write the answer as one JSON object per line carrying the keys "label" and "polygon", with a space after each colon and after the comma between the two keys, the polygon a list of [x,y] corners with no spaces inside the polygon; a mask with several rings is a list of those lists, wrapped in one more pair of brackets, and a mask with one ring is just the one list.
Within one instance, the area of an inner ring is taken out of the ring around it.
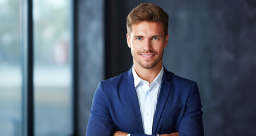
{"label": "narrow blurred glass pane at the far left edge", "polygon": [[0,0],[0,135],[22,134],[21,10]]}

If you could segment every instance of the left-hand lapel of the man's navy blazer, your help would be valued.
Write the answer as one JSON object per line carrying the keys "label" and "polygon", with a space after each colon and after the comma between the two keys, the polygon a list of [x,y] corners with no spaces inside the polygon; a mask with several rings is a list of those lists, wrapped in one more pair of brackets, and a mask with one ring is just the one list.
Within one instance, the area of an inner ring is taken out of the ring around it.
{"label": "left-hand lapel of the man's navy blazer", "polygon": [[128,71],[127,76],[125,76],[125,78],[127,78],[128,82],[124,83],[123,87],[133,112],[133,117],[134,117],[134,121],[136,122],[137,131],[138,133],[144,133],[143,124],[141,120],[140,107],[139,107],[139,100],[134,87],[132,69]]}

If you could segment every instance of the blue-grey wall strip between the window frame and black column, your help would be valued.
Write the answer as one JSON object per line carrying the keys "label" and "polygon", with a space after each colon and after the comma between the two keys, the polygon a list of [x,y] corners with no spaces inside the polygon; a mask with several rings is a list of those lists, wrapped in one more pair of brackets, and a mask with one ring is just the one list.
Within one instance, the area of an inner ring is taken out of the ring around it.
{"label": "blue-grey wall strip between the window frame and black column", "polygon": [[78,1],[78,133],[86,135],[92,97],[104,78],[104,1]]}

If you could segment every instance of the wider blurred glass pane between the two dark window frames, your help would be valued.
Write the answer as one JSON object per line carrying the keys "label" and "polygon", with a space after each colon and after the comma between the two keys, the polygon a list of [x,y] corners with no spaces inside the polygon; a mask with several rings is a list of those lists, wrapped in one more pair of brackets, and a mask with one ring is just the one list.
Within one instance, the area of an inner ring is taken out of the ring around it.
{"label": "wider blurred glass pane between the two dark window frames", "polygon": [[35,0],[35,135],[72,134],[70,0]]}

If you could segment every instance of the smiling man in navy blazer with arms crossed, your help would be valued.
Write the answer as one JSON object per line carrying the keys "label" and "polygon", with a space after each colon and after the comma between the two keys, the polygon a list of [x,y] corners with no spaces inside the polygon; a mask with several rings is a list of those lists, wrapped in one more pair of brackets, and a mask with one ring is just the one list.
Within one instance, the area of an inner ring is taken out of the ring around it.
{"label": "smiling man in navy blazer with arms crossed", "polygon": [[101,81],[87,135],[204,135],[197,84],[162,66],[168,14],[147,3],[127,16],[132,68]]}

